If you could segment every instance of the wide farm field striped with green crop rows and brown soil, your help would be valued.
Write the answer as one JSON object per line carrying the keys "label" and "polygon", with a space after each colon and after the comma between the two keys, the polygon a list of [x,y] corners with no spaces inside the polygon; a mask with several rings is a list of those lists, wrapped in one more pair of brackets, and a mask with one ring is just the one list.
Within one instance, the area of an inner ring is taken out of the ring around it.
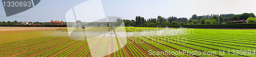
{"label": "wide farm field striped with green crop rows and brown soil", "polygon": [[[144,31],[147,28],[150,27],[127,27],[127,39],[119,39],[127,41],[124,47],[111,54],[95,52],[106,56],[255,56],[256,30],[150,28]],[[65,30],[5,31],[0,35],[0,56],[103,56],[91,55],[87,40],[72,40]],[[99,40],[90,44],[102,46],[116,42],[109,38],[88,38]],[[166,50],[168,53],[162,53]],[[183,50],[186,53],[172,53]]]}

